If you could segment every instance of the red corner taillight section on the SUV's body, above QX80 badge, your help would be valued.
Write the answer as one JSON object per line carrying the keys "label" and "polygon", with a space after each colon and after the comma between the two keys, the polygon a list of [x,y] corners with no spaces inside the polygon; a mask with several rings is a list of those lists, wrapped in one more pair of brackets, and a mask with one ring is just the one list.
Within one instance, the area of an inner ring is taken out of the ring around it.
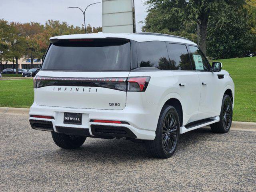
{"label": "red corner taillight section on the SUV's body, above QX80 badge", "polygon": [[127,91],[138,91],[138,92],[144,92],[146,91],[146,88],[148,87],[148,82],[150,80],[150,77],[129,77],[127,79],[128,82],[128,88]]}

